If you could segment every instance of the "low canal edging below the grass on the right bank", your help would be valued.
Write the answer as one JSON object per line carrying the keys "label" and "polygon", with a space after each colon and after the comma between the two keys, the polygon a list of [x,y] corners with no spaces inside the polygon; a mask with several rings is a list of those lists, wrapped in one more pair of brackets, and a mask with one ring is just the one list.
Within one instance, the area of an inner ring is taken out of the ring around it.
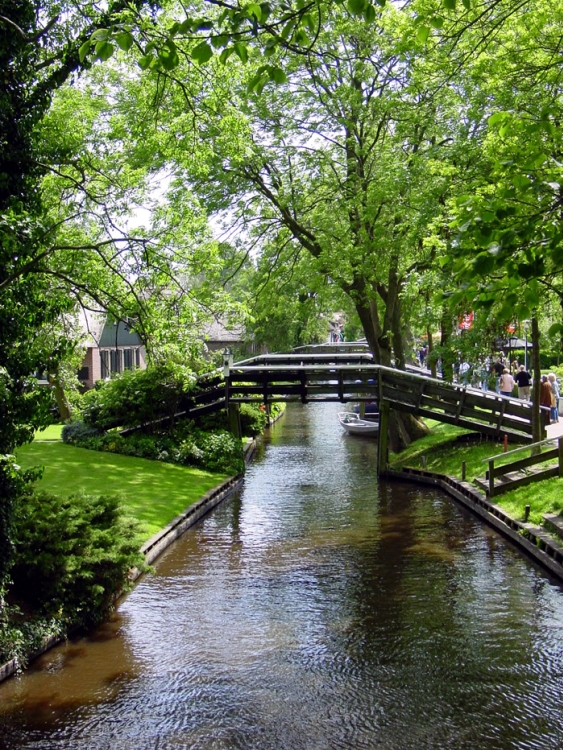
{"label": "low canal edging below the grass on the right bank", "polygon": [[[486,496],[473,485],[447,474],[437,474],[422,469],[403,468],[386,469],[382,479],[399,479],[418,484],[440,487],[450,497],[478,515],[483,521],[494,527],[503,536],[510,539],[543,568],[563,581],[563,545],[557,542],[546,531],[530,523],[516,521],[498,505],[491,503]],[[559,533],[562,531],[561,519],[546,516],[546,525],[550,523]]]}

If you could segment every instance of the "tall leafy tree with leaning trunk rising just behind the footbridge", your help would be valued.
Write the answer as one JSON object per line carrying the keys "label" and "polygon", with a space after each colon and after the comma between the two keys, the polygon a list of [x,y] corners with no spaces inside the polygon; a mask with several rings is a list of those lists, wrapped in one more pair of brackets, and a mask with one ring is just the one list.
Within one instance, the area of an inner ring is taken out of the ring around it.
{"label": "tall leafy tree with leaning trunk rising just behind the footbridge", "polygon": [[[432,263],[422,240],[447,189],[439,109],[452,105],[413,80],[398,18],[375,35],[336,17],[315,55],[286,66],[290,83],[260,96],[262,66],[240,82],[217,72],[201,127],[214,151],[204,178],[192,179],[256,241],[308,253],[310,268],[353,300],[376,361],[403,367],[405,282]],[[180,103],[168,102],[172,118]],[[412,434],[411,420],[398,419],[395,447]]]}

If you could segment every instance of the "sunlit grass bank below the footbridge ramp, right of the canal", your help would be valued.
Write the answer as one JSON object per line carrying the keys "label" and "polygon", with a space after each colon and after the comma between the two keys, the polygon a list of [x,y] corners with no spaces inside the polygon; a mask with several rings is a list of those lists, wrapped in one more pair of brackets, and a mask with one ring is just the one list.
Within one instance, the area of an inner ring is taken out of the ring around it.
{"label": "sunlit grass bank below the footbridge ramp, right of the canal", "polygon": [[[391,454],[390,464],[394,469],[410,466],[416,469],[426,468],[440,474],[448,474],[461,479],[462,464],[465,462],[466,481],[483,477],[487,470],[486,459],[503,452],[503,443],[494,441],[461,442],[460,436],[468,434],[452,425],[425,420],[432,433],[412,443],[400,454]],[[516,445],[509,445],[509,449]],[[528,451],[518,455],[524,458]],[[507,461],[513,460],[509,456]],[[496,462],[502,464],[502,461]],[[495,497],[495,503],[516,520],[524,520],[526,505],[530,506],[529,521],[541,525],[544,513],[560,514],[563,511],[563,479],[546,479],[543,482],[529,484],[511,492]]]}

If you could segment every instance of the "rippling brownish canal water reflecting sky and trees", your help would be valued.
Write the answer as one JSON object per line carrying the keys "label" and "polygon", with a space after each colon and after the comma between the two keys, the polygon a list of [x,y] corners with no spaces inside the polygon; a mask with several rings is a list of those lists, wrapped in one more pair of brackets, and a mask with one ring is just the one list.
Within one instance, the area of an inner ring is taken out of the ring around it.
{"label": "rippling brownish canal water reflecting sky and trees", "polygon": [[10,750],[563,747],[563,595],[294,405],[89,638],[0,685]]}

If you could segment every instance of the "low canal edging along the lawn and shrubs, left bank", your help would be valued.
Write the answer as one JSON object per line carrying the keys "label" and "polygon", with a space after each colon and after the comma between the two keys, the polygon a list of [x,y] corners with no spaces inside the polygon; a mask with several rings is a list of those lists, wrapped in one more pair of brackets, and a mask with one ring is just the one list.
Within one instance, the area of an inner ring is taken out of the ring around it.
{"label": "low canal edging along the lawn and shrubs, left bank", "polygon": [[[248,463],[252,458],[254,451],[256,450],[256,440],[252,440],[247,443],[244,447],[244,461]],[[141,552],[145,555],[145,562],[150,565],[153,563],[164,550],[169,547],[172,542],[176,541],[184,531],[193,526],[200,518],[209,513],[213,508],[226,500],[227,497],[236,492],[244,482],[244,474],[237,474],[234,477],[229,477],[221,484],[217,485],[213,489],[205,493],[196,503],[190,505],[176,518],[173,518],[169,524],[163,529],[158,531],[154,536],[148,539],[141,547]],[[130,573],[132,581],[136,581],[141,576],[141,572],[134,569]],[[119,601],[122,594],[119,594],[116,598],[116,602]],[[28,662],[32,662],[45,651],[48,651],[53,646],[62,643],[66,638],[64,636],[51,636],[46,638],[41,644],[40,648],[34,651],[28,656]],[[18,659],[11,659],[6,664],[0,665],[0,682],[11,677],[13,674],[21,671],[21,667]]]}

